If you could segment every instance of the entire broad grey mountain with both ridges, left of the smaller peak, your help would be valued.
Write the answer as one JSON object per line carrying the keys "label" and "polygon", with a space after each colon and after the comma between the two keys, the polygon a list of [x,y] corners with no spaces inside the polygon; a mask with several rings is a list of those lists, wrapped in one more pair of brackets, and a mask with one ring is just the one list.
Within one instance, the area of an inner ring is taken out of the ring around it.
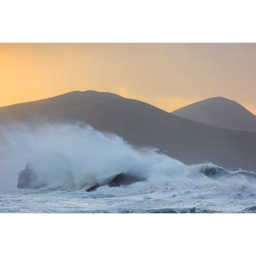
{"label": "entire broad grey mountain with both ridges, left of the smaller peak", "polygon": [[116,94],[70,92],[2,108],[12,118],[23,110],[18,118],[34,123],[80,120],[96,130],[121,136],[134,148],[158,148],[162,154],[165,150],[187,165],[212,162],[227,170],[256,171],[256,132],[210,126]]}

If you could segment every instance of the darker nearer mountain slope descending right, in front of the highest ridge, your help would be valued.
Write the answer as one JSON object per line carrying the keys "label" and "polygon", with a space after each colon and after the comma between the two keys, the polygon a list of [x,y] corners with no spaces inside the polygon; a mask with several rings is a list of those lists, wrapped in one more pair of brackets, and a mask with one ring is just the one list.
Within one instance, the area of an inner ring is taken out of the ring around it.
{"label": "darker nearer mountain slope descending right, in front of the highest ridge", "polygon": [[117,98],[52,118],[80,120],[137,148],[156,147],[185,164],[212,162],[256,170],[256,133],[218,128],[170,114],[145,102]]}

